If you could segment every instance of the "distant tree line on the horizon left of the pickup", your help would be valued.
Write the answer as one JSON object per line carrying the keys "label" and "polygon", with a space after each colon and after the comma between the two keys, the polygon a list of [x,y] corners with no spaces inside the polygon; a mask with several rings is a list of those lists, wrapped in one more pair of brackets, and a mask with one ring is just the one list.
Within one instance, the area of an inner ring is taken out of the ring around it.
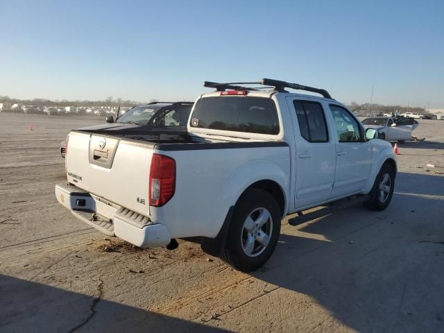
{"label": "distant tree line on the horizon left of the pickup", "polygon": [[[157,101],[151,99],[150,102]],[[35,105],[35,106],[135,106],[143,104],[142,102],[123,100],[120,97],[113,99],[112,96],[108,96],[105,101],[67,101],[58,99],[51,101],[50,99],[12,99],[9,96],[0,96],[0,103],[19,103],[22,105]]]}

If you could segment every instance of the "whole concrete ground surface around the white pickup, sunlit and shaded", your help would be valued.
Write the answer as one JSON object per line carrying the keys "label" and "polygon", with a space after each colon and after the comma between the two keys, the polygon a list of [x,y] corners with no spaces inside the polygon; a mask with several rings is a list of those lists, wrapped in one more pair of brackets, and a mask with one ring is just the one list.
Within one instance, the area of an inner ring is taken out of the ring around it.
{"label": "whole concrete ground surface around the white pickup, sunlit and shaded", "polygon": [[252,274],[187,241],[133,248],[58,205],[60,141],[94,123],[0,113],[1,332],[444,332],[444,121],[400,146],[384,212],[288,216]]}

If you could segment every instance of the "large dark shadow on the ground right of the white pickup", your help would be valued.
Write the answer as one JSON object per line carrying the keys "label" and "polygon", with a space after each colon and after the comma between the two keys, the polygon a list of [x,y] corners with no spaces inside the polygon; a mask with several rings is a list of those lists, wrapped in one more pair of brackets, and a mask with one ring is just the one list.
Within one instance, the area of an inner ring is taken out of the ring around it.
{"label": "large dark shadow on the ground right of the white pickup", "polygon": [[397,184],[383,212],[350,200],[284,226],[275,254],[253,275],[296,293],[269,307],[307,312],[307,302],[285,309],[305,295],[312,328],[337,330],[328,325],[341,321],[358,332],[442,332],[444,177],[400,173]]}

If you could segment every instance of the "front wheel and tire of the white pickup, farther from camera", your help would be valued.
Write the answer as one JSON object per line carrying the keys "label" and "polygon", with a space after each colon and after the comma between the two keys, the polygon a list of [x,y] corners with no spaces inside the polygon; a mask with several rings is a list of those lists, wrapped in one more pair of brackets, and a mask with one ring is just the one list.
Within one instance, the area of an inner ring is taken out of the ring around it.
{"label": "front wheel and tire of the white pickup, farther from camera", "polygon": [[384,164],[376,176],[369,193],[370,198],[364,205],[369,210],[385,210],[393,196],[393,189],[395,189],[395,172],[390,165]]}

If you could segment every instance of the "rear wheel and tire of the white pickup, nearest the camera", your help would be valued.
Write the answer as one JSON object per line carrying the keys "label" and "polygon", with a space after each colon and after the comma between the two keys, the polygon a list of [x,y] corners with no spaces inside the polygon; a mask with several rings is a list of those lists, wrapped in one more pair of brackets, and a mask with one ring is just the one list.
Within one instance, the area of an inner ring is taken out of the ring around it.
{"label": "rear wheel and tire of the white pickup, nearest the camera", "polygon": [[238,271],[261,267],[278,244],[281,216],[271,194],[248,189],[234,207],[221,259]]}

